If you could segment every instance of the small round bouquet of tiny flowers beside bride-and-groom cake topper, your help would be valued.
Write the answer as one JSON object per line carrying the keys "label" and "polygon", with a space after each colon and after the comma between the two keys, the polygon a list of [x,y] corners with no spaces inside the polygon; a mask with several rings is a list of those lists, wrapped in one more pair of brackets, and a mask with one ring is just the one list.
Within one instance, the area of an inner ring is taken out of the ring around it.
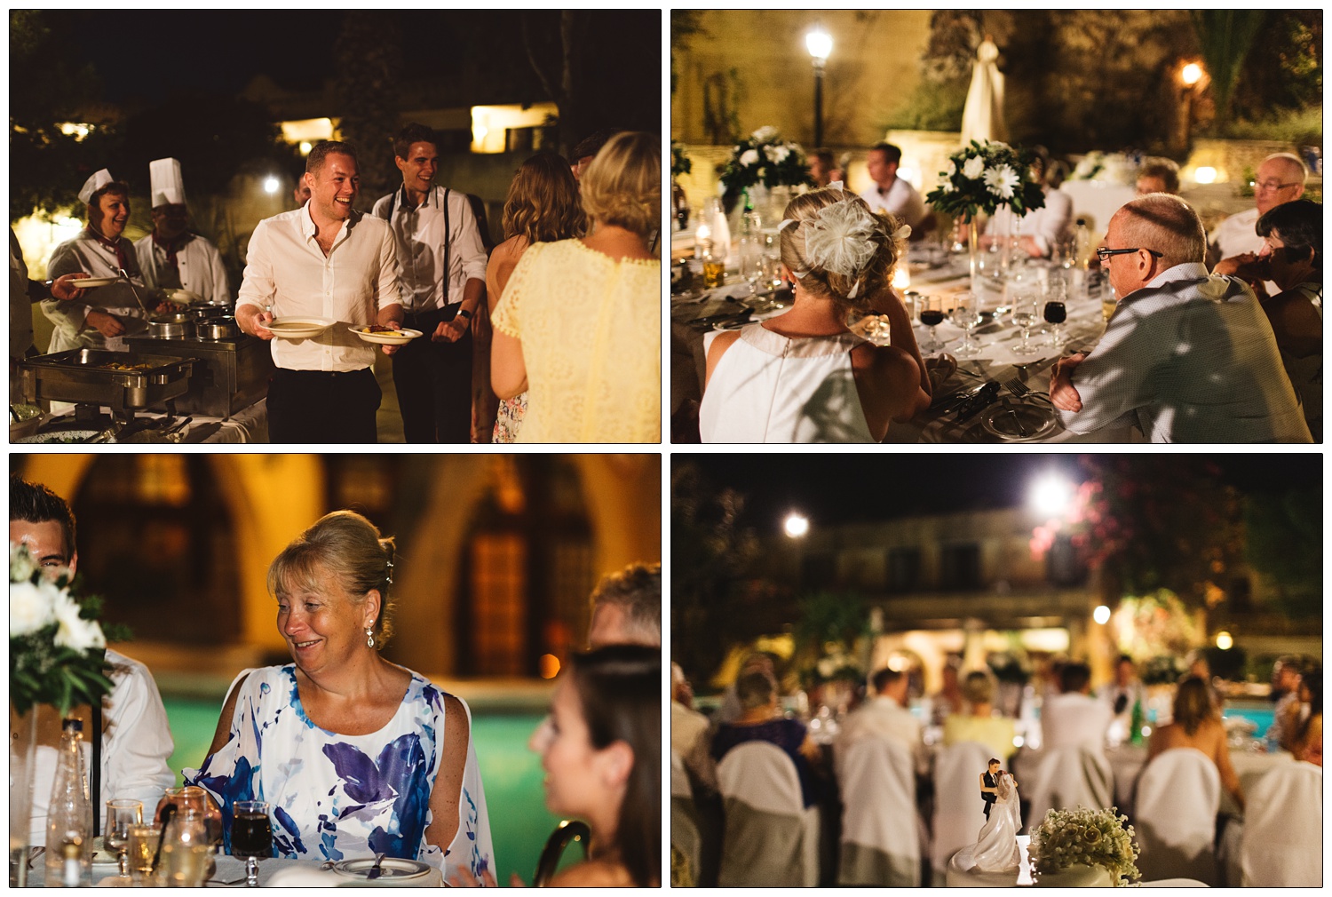
{"label": "small round bouquet of tiny flowers beside bride-and-groom cake topper", "polygon": [[1050,810],[1031,833],[1031,866],[1038,880],[1070,866],[1102,866],[1116,888],[1142,877],[1135,860],[1134,826],[1119,808]]}

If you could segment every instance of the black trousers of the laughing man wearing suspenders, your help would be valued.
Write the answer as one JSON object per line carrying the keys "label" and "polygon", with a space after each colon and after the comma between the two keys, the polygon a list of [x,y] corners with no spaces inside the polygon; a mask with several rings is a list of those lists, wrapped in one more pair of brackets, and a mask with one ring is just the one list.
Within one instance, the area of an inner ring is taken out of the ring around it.
{"label": "black trousers of the laughing man wearing suspenders", "polygon": [[472,441],[472,328],[457,343],[430,340],[436,328],[457,313],[454,305],[409,313],[402,321],[402,327],[425,335],[393,355],[393,388],[408,443]]}

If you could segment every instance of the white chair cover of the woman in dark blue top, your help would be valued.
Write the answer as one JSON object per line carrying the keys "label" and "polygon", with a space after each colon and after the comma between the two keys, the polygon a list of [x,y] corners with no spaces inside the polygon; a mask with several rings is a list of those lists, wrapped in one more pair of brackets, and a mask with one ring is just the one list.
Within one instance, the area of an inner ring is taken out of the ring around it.
{"label": "white chair cover of the woman in dark blue top", "polygon": [[766,741],[731,748],[717,785],[726,816],[719,886],[818,885],[818,808],[805,809],[785,750]]}

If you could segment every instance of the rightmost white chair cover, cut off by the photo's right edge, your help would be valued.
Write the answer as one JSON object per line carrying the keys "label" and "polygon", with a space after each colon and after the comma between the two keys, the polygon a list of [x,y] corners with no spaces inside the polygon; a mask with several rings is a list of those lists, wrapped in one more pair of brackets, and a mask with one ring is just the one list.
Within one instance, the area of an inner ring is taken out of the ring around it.
{"label": "rightmost white chair cover, cut off by the photo's right edge", "polygon": [[1323,769],[1303,761],[1280,764],[1245,797],[1244,886],[1321,886]]}

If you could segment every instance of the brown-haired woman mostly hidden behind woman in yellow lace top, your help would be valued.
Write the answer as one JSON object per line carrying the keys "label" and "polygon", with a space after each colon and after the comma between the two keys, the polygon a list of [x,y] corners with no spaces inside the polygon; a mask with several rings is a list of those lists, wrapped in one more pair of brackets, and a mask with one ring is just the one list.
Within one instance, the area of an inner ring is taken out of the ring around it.
{"label": "brown-haired woman mostly hidden behind woman in yellow lace top", "polygon": [[[579,204],[578,181],[569,163],[551,152],[539,152],[523,161],[503,201],[505,241],[494,248],[486,264],[489,313],[494,315],[527,247],[581,237],[586,229],[587,216]],[[492,441],[513,443],[526,411],[526,393],[501,401]]]}

